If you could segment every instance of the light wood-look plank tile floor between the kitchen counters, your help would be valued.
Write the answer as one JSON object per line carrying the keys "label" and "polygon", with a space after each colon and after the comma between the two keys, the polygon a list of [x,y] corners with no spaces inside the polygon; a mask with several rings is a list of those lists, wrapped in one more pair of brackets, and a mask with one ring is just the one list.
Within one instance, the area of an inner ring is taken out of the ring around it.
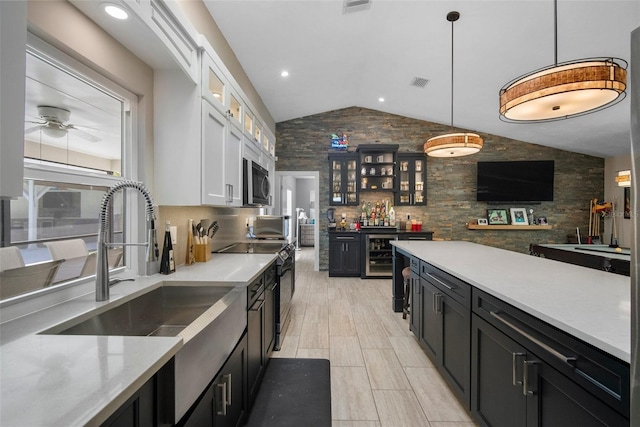
{"label": "light wood-look plank tile floor between the kitchen counters", "polygon": [[330,360],[333,427],[476,426],[392,311],[390,279],[330,278],[302,248],[292,313],[272,357]]}

